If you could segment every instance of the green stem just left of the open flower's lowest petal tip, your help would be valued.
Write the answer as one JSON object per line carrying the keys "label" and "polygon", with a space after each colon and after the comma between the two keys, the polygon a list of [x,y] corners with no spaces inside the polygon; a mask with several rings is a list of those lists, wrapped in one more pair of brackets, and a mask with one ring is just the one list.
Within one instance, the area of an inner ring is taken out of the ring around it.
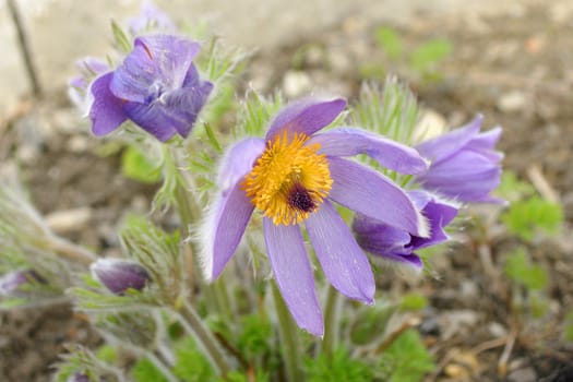
{"label": "green stem just left of the open flower's lowest petal tip", "polygon": [[290,312],[288,311],[288,308],[283,300],[283,296],[280,296],[280,291],[278,291],[275,283],[272,283],[272,289],[276,314],[278,317],[278,332],[280,335],[287,381],[303,381],[300,357],[301,350],[298,335],[299,330],[290,317]]}

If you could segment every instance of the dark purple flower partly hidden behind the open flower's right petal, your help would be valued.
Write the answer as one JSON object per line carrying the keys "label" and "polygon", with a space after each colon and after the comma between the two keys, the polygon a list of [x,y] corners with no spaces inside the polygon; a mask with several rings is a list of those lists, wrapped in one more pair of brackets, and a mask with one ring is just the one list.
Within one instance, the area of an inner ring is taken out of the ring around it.
{"label": "dark purple flower partly hidden behind the open flower's right petal", "polygon": [[405,270],[419,273],[423,264],[415,253],[416,250],[449,239],[444,227],[457,215],[458,206],[422,190],[408,191],[408,195],[428,219],[430,236],[420,237],[363,214],[356,214],[353,230],[358,244],[375,259],[387,260]]}

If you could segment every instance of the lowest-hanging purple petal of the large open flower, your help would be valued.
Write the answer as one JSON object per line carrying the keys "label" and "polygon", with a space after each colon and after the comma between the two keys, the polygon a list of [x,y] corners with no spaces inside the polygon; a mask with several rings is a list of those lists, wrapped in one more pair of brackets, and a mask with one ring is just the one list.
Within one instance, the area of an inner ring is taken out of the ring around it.
{"label": "lowest-hanging purple petal of the large open flower", "polygon": [[322,336],[322,311],[300,227],[276,226],[266,217],[263,226],[268,261],[290,313],[301,329]]}

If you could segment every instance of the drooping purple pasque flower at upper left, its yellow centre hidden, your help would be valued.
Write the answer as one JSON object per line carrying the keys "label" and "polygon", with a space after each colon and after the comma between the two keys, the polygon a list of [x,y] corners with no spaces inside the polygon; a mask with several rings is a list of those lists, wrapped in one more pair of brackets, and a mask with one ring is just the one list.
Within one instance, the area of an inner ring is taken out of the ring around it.
{"label": "drooping purple pasque flower at upper left, its yellow centre hidden", "polygon": [[135,38],[123,63],[92,84],[94,134],[105,135],[130,119],[162,142],[175,134],[187,138],[213,89],[193,64],[199,49],[177,36]]}

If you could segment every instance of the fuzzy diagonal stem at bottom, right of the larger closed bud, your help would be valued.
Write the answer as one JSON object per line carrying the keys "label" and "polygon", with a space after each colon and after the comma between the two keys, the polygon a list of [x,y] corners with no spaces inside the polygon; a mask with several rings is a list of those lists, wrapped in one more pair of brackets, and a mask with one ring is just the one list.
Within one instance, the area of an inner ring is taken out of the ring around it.
{"label": "fuzzy diagonal stem at bottom, right of the larger closed bud", "polygon": [[184,330],[193,336],[198,346],[203,349],[215,371],[219,375],[225,377],[231,369],[229,360],[193,307],[186,301],[181,310],[177,312],[177,315]]}

